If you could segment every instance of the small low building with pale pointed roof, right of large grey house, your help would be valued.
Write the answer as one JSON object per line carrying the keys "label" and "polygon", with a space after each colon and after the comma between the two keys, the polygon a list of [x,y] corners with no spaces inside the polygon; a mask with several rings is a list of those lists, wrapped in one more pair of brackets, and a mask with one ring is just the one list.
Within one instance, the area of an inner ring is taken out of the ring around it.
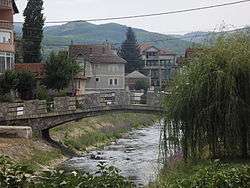
{"label": "small low building with pale pointed roof, right of large grey house", "polygon": [[138,81],[144,81],[145,83],[150,84],[150,78],[140,73],[139,71],[134,71],[125,77],[126,88],[129,90],[136,90],[136,83]]}

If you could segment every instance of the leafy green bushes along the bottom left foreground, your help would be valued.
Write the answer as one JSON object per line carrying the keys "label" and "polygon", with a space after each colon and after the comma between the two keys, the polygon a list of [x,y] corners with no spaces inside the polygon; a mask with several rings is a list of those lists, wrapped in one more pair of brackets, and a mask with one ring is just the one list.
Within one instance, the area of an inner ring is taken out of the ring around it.
{"label": "leafy green bushes along the bottom left foreground", "polygon": [[1,188],[129,188],[134,185],[119,174],[119,170],[104,163],[98,165],[95,174],[48,170],[37,175],[29,166],[13,163],[0,156]]}

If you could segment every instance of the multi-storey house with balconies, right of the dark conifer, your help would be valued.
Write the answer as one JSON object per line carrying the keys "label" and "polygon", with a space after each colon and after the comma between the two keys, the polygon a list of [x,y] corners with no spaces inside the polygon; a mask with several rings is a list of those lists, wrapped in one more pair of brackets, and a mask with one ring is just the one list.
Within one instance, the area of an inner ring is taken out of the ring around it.
{"label": "multi-storey house with balconies, right of the dark conifer", "polygon": [[150,85],[162,88],[177,69],[177,55],[169,50],[157,48],[151,44],[139,45],[141,58],[144,61],[144,72],[150,77]]}

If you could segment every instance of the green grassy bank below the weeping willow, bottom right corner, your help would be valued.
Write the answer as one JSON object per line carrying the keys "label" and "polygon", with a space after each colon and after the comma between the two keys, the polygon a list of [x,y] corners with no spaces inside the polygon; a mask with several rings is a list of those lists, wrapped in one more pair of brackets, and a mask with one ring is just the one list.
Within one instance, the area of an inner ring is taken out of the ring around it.
{"label": "green grassy bank below the weeping willow, bottom right corner", "polygon": [[250,187],[250,162],[180,162],[162,170],[149,188],[247,188]]}

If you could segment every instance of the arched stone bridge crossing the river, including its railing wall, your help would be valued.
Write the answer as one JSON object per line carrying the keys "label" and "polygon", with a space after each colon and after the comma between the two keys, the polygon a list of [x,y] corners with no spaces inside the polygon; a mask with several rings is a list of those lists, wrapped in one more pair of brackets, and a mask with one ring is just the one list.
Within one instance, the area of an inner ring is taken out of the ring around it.
{"label": "arched stone bridge crossing the river, including its railing wall", "polygon": [[162,113],[161,96],[148,93],[142,100],[129,92],[89,94],[81,97],[57,97],[54,101],[33,100],[2,103],[1,126],[29,126],[33,132],[49,136],[49,130],[67,122],[107,112]]}

